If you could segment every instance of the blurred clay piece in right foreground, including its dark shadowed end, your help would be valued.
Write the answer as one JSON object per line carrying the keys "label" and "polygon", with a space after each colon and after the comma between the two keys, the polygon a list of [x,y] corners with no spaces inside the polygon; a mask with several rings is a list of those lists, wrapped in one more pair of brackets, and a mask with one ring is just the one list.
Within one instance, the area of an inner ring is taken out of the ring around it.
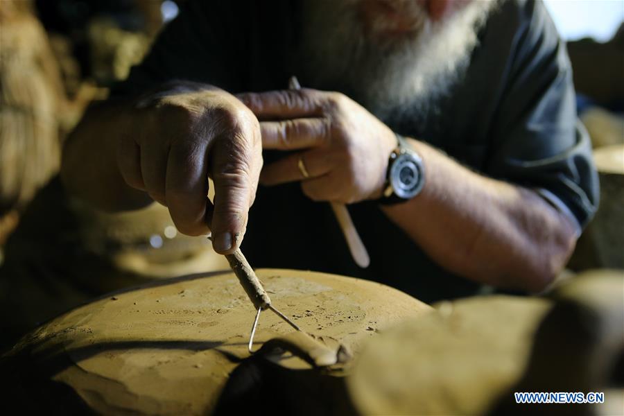
{"label": "blurred clay piece in right foreground, including its dark shadowed end", "polygon": [[[367,343],[346,377],[348,395],[361,415],[623,415],[621,389],[609,391],[624,353],[623,277],[593,270],[548,297],[434,305]],[[582,410],[528,410],[513,395],[605,390],[604,406]]]}

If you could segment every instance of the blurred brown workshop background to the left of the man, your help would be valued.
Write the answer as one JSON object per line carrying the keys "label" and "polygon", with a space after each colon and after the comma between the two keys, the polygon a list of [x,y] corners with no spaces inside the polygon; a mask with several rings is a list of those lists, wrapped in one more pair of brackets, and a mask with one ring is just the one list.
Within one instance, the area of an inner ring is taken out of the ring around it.
{"label": "blurred brown workshop background to the left of the man", "polygon": [[[183,0],[0,0],[3,340],[107,291],[227,268],[166,207],[108,214],[67,196],[64,140],[128,76]],[[94,184],[97,186],[97,184]]]}

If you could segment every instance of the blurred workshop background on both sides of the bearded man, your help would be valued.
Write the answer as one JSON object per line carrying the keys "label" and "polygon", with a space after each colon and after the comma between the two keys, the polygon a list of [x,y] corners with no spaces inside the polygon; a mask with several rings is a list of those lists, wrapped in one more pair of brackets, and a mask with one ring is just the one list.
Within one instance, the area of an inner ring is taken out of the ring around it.
{"label": "blurred workshop background on both sides of the bearded man", "polygon": [[[66,198],[56,179],[87,105],[128,76],[184,1],[0,0],[0,275],[10,276],[0,294],[24,291],[33,305],[53,295],[55,310],[33,322],[142,279],[227,268],[205,239],[177,233],[164,207],[105,214]],[[568,41],[602,187],[569,270],[624,268],[624,1],[545,3]],[[74,260],[60,261],[67,253]],[[33,275],[53,290],[34,295]]]}

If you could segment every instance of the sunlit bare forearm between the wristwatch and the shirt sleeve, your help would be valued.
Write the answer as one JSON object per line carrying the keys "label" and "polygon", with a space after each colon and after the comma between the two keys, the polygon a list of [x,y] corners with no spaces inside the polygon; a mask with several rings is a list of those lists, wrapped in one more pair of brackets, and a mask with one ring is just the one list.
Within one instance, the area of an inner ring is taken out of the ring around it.
{"label": "sunlit bare forearm between the wristwatch and the shirt sleeve", "polygon": [[575,243],[570,220],[530,189],[469,171],[419,141],[422,193],[383,211],[437,263],[499,287],[540,291]]}

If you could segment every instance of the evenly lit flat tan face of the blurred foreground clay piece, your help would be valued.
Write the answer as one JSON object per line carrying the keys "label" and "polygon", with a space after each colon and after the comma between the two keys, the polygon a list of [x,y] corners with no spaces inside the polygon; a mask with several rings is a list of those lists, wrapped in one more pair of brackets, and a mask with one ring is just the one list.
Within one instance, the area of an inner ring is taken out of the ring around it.
{"label": "evenly lit flat tan face of the blurred foreground clay piece", "polygon": [[370,340],[347,378],[363,415],[483,415],[521,377],[545,299],[444,302]]}

